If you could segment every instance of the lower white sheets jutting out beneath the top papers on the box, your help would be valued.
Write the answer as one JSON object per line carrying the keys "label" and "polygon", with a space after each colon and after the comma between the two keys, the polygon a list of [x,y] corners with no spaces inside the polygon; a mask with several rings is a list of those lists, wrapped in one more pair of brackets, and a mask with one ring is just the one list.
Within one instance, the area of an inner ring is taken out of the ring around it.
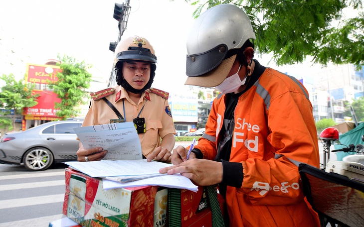
{"label": "lower white sheets jutting out beneath the top papers on the box", "polygon": [[117,177],[108,177],[107,179],[102,180],[102,184],[105,190],[139,186],[164,186],[167,188],[187,189],[193,192],[197,192],[198,190],[198,187],[194,185],[191,180],[180,174],[162,175],[127,183],[117,182]]}

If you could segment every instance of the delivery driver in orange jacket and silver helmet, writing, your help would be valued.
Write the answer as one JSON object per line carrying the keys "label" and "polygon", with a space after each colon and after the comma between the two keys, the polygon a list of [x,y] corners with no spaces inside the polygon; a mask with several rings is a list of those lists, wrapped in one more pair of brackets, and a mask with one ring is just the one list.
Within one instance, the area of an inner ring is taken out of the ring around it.
{"label": "delivery driver in orange jacket and silver helmet, writing", "polygon": [[205,133],[186,160],[178,146],[161,173],[219,185],[231,227],[319,226],[298,163],[319,167],[308,93],[295,78],[253,60],[255,34],[238,7],[202,13],[187,38],[185,84],[215,87]]}

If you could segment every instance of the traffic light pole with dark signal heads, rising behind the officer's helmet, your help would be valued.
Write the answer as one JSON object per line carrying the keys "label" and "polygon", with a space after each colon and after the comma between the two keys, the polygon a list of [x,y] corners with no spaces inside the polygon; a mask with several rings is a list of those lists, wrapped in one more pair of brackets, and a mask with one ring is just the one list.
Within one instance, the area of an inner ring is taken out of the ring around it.
{"label": "traffic light pole with dark signal heads, rising behind the officer's helmet", "polygon": [[[126,0],[125,3],[116,3],[115,2],[113,17],[117,21],[119,21],[119,23],[118,23],[119,35],[118,35],[118,40],[116,42],[110,42],[109,50],[111,50],[112,52],[115,52],[116,45],[118,45],[119,41],[121,40],[121,36],[123,35],[123,33],[126,29],[128,19],[129,19],[130,9],[132,8],[129,5],[129,2],[130,2],[130,0]],[[113,85],[115,85],[114,64],[113,64],[113,67],[111,68],[110,78],[109,78],[109,82],[108,82],[107,86],[112,87]]]}

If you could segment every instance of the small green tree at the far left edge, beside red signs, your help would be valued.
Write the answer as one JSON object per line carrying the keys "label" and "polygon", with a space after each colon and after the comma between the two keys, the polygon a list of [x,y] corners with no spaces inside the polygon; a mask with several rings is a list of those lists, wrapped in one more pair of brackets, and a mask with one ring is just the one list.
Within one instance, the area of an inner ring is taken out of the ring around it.
{"label": "small green tree at the far left edge, beside red signs", "polygon": [[[39,94],[34,94],[32,91],[35,87],[34,84],[26,83],[25,77],[17,81],[13,74],[0,76],[0,80],[5,82],[1,87],[0,92],[0,125],[9,127],[11,130],[15,128],[15,116],[21,114],[25,107],[34,107],[38,104],[36,98]],[[13,111],[14,114],[10,114]],[[11,115],[11,120],[6,115]]]}

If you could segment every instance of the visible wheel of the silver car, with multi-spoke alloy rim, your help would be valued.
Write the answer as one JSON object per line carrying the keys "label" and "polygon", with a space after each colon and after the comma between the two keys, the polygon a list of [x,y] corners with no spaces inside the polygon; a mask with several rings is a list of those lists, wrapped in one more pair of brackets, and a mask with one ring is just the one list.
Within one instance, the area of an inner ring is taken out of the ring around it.
{"label": "visible wheel of the silver car, with multi-spoke alloy rim", "polygon": [[23,163],[31,171],[46,170],[53,163],[53,154],[46,148],[34,147],[25,152]]}

